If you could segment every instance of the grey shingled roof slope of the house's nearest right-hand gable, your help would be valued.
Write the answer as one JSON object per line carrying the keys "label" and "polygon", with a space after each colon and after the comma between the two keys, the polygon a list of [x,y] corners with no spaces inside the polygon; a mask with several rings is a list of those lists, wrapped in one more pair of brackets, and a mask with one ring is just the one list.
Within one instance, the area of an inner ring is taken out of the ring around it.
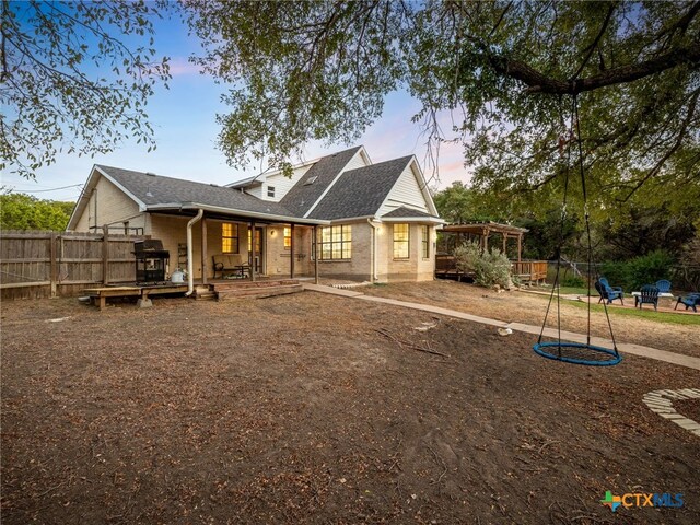
{"label": "grey shingled roof slope of the house's nearest right-hand gable", "polygon": [[343,173],[310,219],[332,221],[374,215],[413,156],[402,156]]}

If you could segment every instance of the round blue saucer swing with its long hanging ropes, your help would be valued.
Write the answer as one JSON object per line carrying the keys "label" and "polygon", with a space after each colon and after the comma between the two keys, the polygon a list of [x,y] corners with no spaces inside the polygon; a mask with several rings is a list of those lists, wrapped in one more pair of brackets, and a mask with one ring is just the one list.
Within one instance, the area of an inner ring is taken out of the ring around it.
{"label": "round blue saucer swing with its long hanging ropes", "polygon": [[[587,238],[587,319],[586,319],[586,342],[575,343],[575,342],[567,342],[561,339],[561,296],[560,296],[560,287],[559,279],[561,272],[561,250],[564,242],[564,228],[567,221],[567,198],[569,192],[569,173],[571,171],[571,150],[569,147],[567,154],[567,170],[564,171],[564,187],[563,187],[563,202],[561,208],[561,224],[559,229],[559,243],[557,245],[557,270],[555,273],[555,282],[552,284],[551,294],[549,295],[549,302],[547,304],[547,311],[545,313],[545,319],[542,322],[541,329],[539,331],[539,337],[537,339],[537,343],[534,345],[533,349],[538,354],[570,363],[576,364],[587,364],[587,365],[612,365],[620,362],[622,359],[617,350],[617,343],[615,342],[615,335],[612,332],[612,325],[610,323],[610,316],[608,313],[607,304],[604,301],[604,311],[605,316],[608,323],[608,328],[610,330],[610,338],[612,340],[612,350],[591,345],[591,282],[593,281],[594,272],[595,279],[599,279],[597,268],[594,269],[593,264],[593,243],[591,237],[591,220],[588,212],[588,197],[586,190],[586,180],[585,180],[585,170],[583,165],[583,145],[581,138],[581,122],[579,119],[579,101],[578,96],[574,95],[572,100],[572,108],[571,108],[571,119],[572,125],[569,133],[569,142],[573,140],[573,130],[575,126],[576,130],[576,141],[578,141],[578,152],[579,152],[579,172],[581,175],[581,189],[583,195],[583,209],[584,209],[584,219],[585,219],[585,229],[586,229],[586,238]],[[563,121],[563,119],[562,119]],[[549,312],[551,308],[551,304],[555,298],[555,293],[557,294],[557,334],[558,340],[555,342],[542,342],[542,337],[545,334],[545,328],[547,326],[547,318],[549,317]],[[556,348],[557,351],[553,353],[550,349]]]}

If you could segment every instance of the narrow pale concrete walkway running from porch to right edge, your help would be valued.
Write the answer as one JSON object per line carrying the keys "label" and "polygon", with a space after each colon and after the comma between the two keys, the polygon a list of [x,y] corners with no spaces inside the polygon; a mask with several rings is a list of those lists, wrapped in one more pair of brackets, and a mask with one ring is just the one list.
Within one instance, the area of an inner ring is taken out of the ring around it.
{"label": "narrow pale concrete walkway running from porch to right edge", "polygon": [[[325,287],[323,284],[304,282],[303,287],[304,290],[308,290],[312,292],[329,293],[331,295],[339,295],[342,298],[359,299],[361,301],[371,301],[373,303],[383,303],[390,304],[393,306],[419,310],[421,312],[430,312],[431,314],[445,315],[457,319],[480,323],[482,325],[495,326],[499,328],[511,328],[515,331],[523,331],[525,334],[533,334],[536,336],[539,335],[539,331],[541,329],[540,326],[525,325],[523,323],[505,323],[503,320],[495,320],[488,317],[480,317],[478,315],[465,314],[464,312],[457,312],[455,310],[443,308],[440,306],[411,303],[408,301],[398,301],[396,299],[375,298],[372,295],[365,295],[361,292],[354,292],[352,290],[339,290],[337,288]],[[545,336],[557,338],[559,337],[559,331],[555,328],[545,328]],[[576,334],[573,331],[561,330],[561,338],[571,342],[586,342],[585,335]],[[597,347],[612,348],[612,341],[602,337],[592,337],[591,343]],[[679,366],[686,366],[688,369],[700,370],[700,358],[693,358],[691,355],[684,355],[680,353],[668,352],[666,350],[658,350],[656,348],[643,347],[642,345],[634,345],[629,342],[618,342],[617,349],[622,353],[641,355],[642,358],[655,359],[656,361],[664,361],[666,363],[677,364]]]}

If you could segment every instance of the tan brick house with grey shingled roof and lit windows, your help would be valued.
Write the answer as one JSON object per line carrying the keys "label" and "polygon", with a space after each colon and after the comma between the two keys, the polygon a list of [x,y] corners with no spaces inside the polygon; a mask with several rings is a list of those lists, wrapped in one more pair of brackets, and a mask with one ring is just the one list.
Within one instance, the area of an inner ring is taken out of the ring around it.
{"label": "tan brick house with grey shingled roof and lit windows", "polygon": [[443,222],[413,155],[372,163],[357,147],[226,186],[95,165],[68,230],[160,238],[170,271],[203,282],[222,254],[255,262],[250,278],[387,282],[433,279]]}

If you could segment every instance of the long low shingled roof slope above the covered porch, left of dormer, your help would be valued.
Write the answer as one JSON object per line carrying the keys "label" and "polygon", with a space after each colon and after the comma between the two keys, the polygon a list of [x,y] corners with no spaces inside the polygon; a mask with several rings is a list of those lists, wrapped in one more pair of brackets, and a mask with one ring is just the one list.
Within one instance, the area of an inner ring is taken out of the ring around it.
{"label": "long low shingled roof slope above the covered porch, left of dormer", "polygon": [[294,217],[294,213],[278,202],[260,200],[238,189],[119,167],[103,165],[95,167],[113,178],[147,208],[196,202],[232,211]]}

